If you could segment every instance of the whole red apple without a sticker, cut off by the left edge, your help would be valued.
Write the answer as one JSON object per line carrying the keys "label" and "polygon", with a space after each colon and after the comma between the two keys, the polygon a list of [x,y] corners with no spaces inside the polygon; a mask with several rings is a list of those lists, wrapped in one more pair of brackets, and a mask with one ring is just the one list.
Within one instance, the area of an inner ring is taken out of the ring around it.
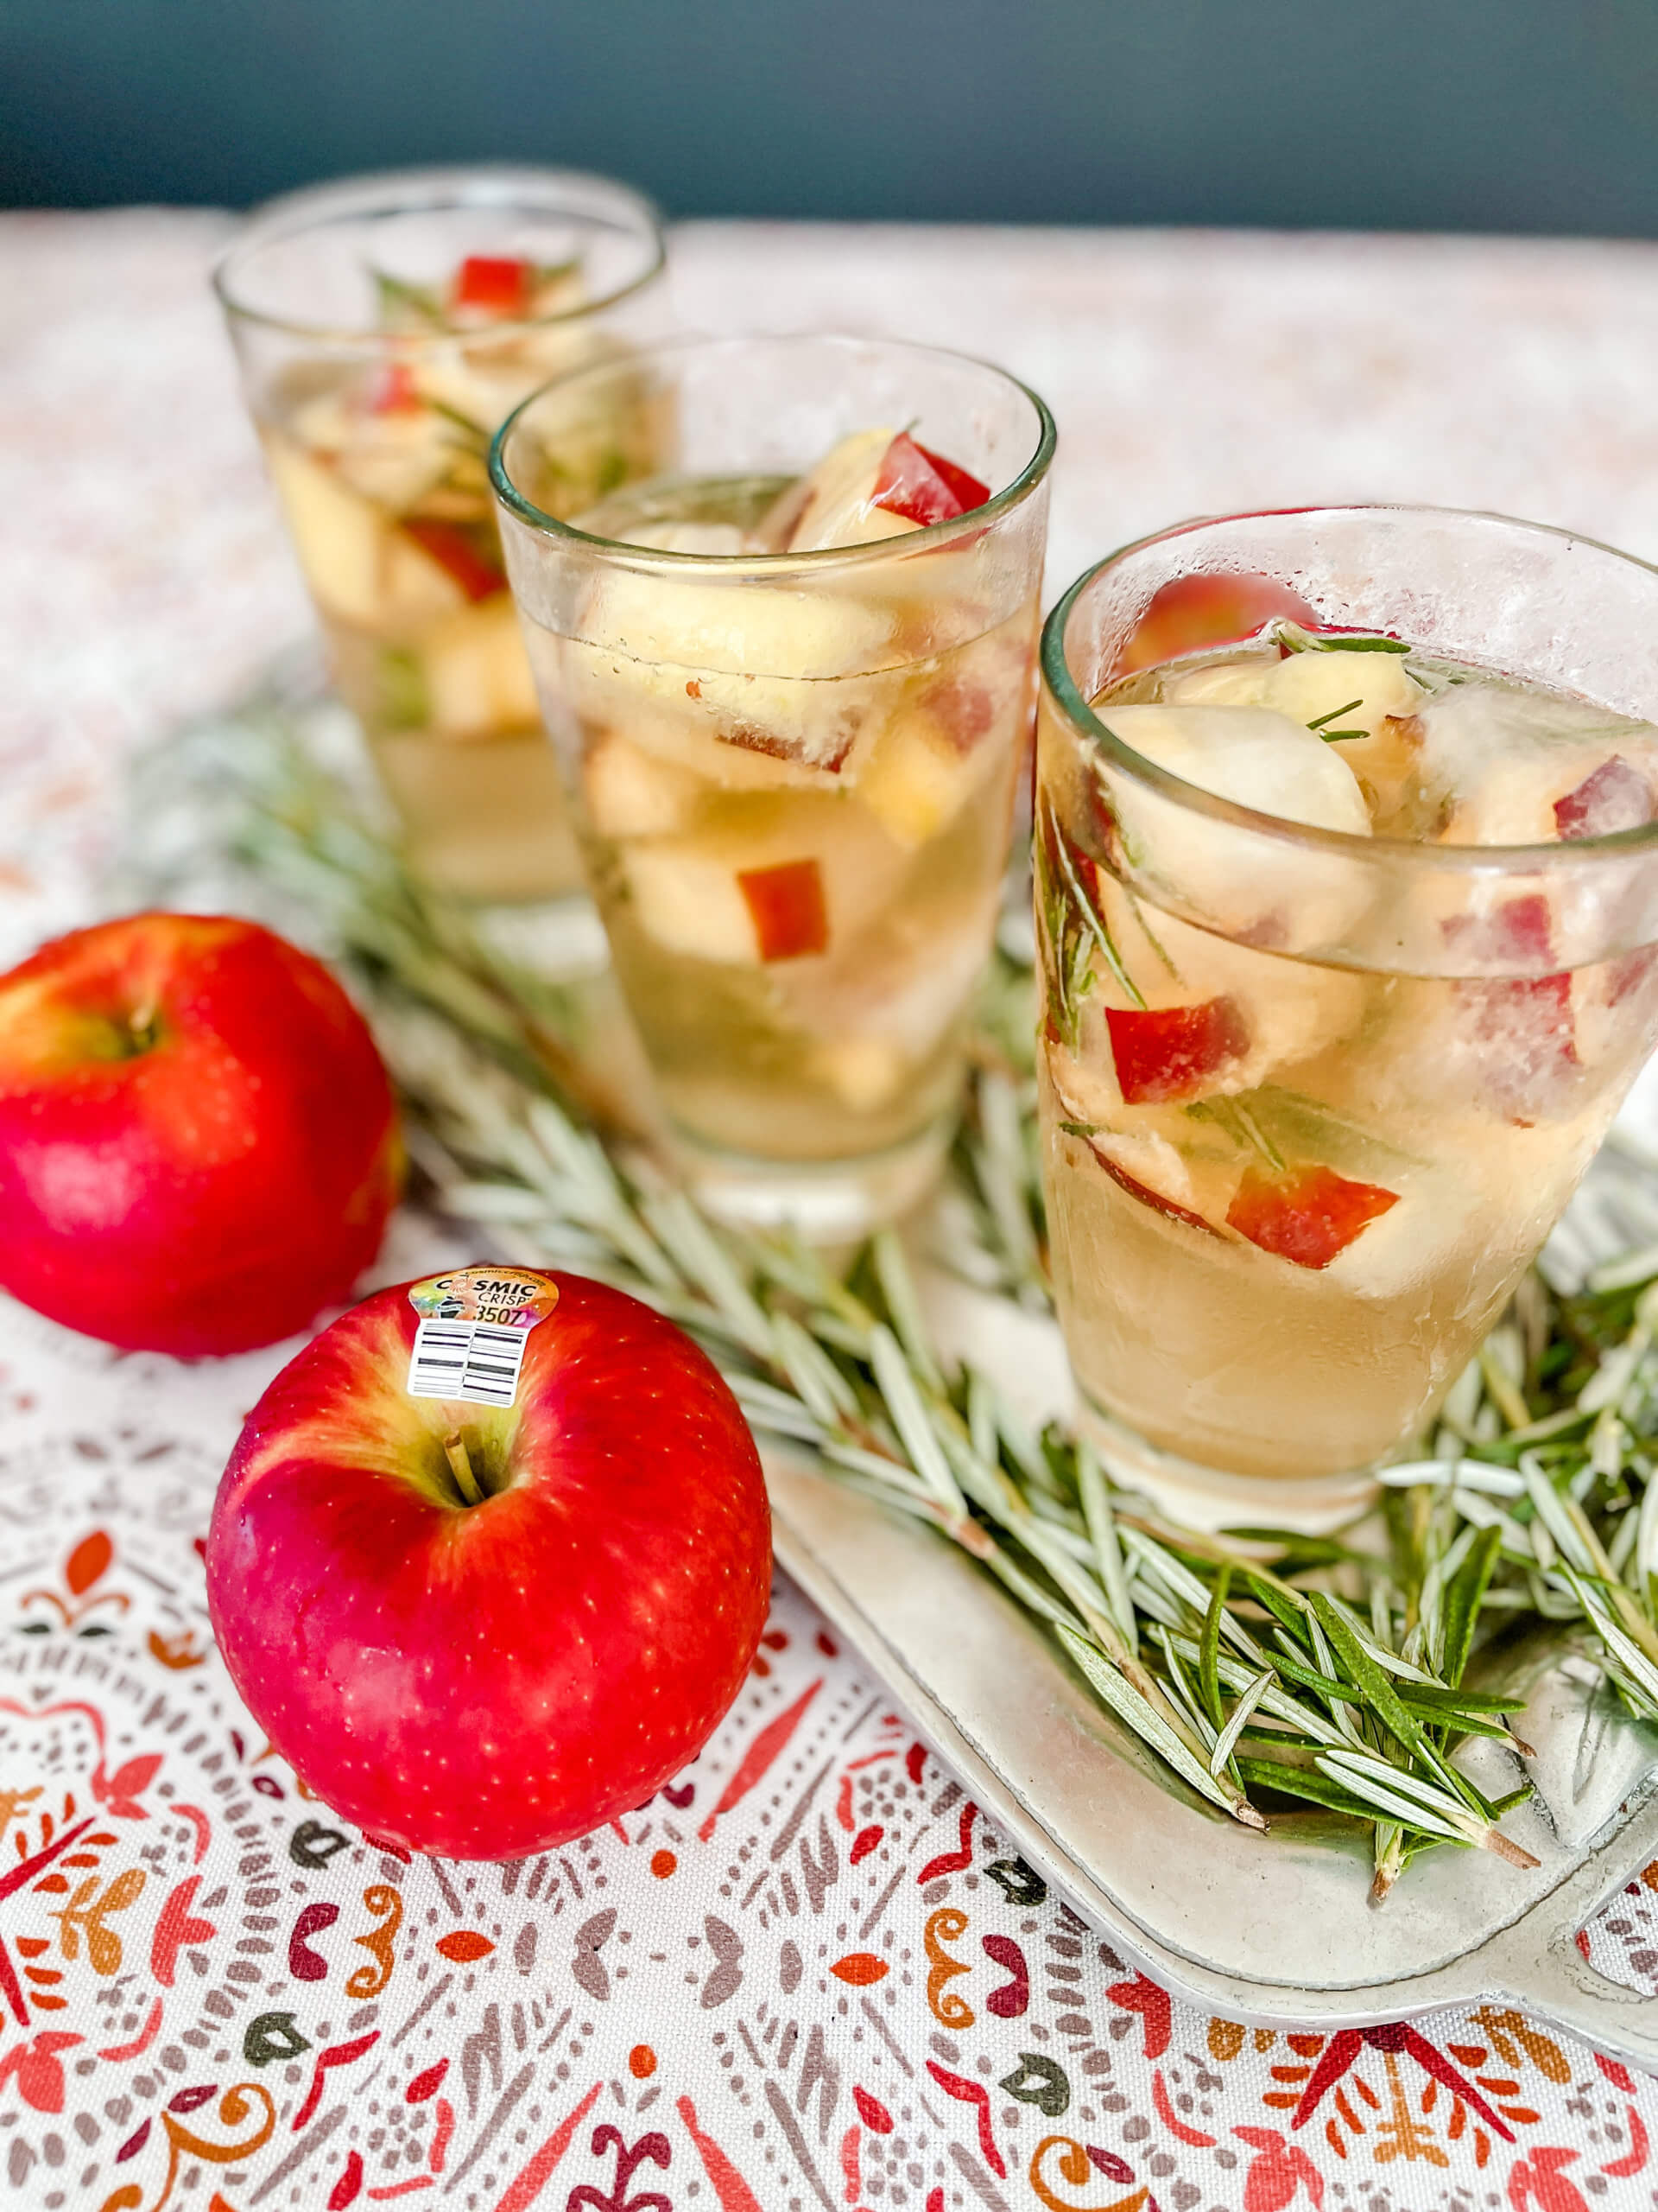
{"label": "whole red apple without a sticker, cut off by the left edge", "polygon": [[256,922],[133,914],[0,975],[0,1287],[133,1352],[349,1296],[402,1148],[363,1015]]}

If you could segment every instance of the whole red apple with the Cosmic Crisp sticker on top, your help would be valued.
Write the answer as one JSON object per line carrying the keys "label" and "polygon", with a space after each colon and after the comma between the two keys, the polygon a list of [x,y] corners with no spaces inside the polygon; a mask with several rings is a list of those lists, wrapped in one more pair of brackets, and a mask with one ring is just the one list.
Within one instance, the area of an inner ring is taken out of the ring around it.
{"label": "whole red apple with the Cosmic Crisp sticker on top", "polygon": [[252,1717],[336,1814],[442,1858],[643,1805],[736,1697],[769,1595],[760,1460],[714,1365],[619,1290],[517,1283],[557,1303],[513,1405],[409,1396],[429,1285],[382,1290],[270,1385],[208,1533]]}

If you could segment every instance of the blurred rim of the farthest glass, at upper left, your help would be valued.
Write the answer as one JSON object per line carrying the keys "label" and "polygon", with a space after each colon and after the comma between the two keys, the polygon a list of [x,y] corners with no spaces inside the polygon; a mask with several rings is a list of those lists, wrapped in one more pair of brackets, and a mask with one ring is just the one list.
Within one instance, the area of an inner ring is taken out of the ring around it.
{"label": "blurred rim of the farthest glass, at upper left", "polygon": [[[612,285],[599,299],[584,301],[579,307],[559,307],[555,314],[504,316],[478,330],[389,332],[374,323],[312,323],[303,316],[270,314],[239,299],[234,290],[237,274],[252,252],[279,239],[301,237],[307,230],[420,210],[528,206],[537,197],[546,201],[546,212],[581,212],[577,208],[559,210],[557,192],[588,192],[595,201],[608,199],[619,219],[630,217],[626,223],[619,221],[617,228],[637,230],[650,248],[648,263],[634,276]],[[290,338],[309,338],[316,345],[374,343],[416,352],[440,345],[475,345],[480,338],[511,338],[515,332],[555,330],[559,323],[581,323],[592,314],[617,307],[623,299],[632,299],[634,292],[654,283],[665,263],[668,237],[661,210],[619,177],[604,177],[590,168],[544,168],[533,161],[455,161],[354,170],[345,177],[298,186],[292,192],[276,192],[245,212],[212,263],[210,281],[223,312],[241,323],[259,323],[263,330],[281,330]]]}

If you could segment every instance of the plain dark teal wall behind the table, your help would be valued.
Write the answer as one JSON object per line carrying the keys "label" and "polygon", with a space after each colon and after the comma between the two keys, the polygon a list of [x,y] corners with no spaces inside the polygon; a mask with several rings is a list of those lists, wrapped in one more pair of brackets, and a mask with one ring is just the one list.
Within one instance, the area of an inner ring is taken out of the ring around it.
{"label": "plain dark teal wall behind the table", "polygon": [[0,0],[0,199],[1658,234],[1658,0]]}

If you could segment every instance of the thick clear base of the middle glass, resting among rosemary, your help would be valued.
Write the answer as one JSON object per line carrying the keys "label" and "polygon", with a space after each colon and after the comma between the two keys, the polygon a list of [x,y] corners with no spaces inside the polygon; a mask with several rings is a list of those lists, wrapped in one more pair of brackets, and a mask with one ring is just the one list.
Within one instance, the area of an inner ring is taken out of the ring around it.
{"label": "thick clear base of the middle glass, resting among rosemary", "polygon": [[955,1121],[933,1121],[917,1137],[860,1159],[752,1159],[672,1135],[685,1183],[716,1221],[743,1230],[794,1228],[807,1243],[856,1243],[917,1206],[951,1148]]}

